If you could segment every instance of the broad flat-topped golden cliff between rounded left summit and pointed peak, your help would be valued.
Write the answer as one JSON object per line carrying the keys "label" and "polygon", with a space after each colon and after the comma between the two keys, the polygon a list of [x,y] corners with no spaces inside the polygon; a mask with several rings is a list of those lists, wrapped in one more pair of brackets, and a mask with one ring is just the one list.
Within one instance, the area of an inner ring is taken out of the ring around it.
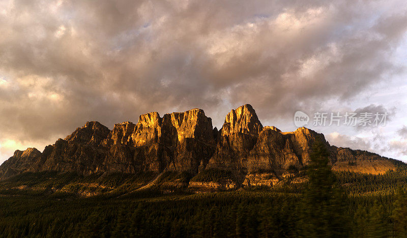
{"label": "broad flat-topped golden cliff between rounded left summit and pointed peak", "polygon": [[[102,146],[109,149],[107,171],[136,173],[164,169],[197,173],[207,163],[215,140],[212,120],[200,109],[140,116],[138,123],[116,124]],[[124,171],[119,168],[126,167]]]}

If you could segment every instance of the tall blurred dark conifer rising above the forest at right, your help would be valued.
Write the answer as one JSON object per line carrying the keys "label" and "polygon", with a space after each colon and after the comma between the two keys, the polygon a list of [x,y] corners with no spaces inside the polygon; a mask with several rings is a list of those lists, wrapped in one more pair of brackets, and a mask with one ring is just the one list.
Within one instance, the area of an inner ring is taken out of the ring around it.
{"label": "tall blurred dark conifer rising above the forest at right", "polygon": [[305,189],[299,222],[299,236],[343,237],[348,219],[344,214],[343,194],[336,186],[325,144],[316,141],[307,169],[309,183]]}

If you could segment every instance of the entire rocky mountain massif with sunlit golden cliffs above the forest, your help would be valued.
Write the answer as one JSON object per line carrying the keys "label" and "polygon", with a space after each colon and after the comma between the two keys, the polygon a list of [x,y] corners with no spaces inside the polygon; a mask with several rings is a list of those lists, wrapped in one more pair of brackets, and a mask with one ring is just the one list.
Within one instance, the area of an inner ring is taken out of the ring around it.
{"label": "entire rocky mountain massif with sunlit golden cliffs above the forest", "polygon": [[255,173],[279,177],[288,168],[309,163],[315,140],[331,151],[334,169],[384,173],[395,167],[391,160],[373,153],[330,146],[323,134],[305,127],[293,132],[263,127],[254,109],[244,105],[227,114],[219,131],[200,109],[162,118],[157,112],[147,113],[136,124],[123,122],[112,130],[99,122],[86,122],[42,153],[35,148],[17,150],[0,165],[0,179],[39,171],[196,174],[198,168],[228,169],[242,178]]}

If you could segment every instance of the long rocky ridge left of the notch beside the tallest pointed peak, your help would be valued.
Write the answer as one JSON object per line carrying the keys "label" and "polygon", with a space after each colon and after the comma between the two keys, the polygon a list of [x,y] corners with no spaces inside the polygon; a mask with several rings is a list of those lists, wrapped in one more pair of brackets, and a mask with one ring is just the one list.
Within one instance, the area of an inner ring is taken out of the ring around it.
{"label": "long rocky ridge left of the notch beside the tallest pointed peak", "polygon": [[215,151],[212,120],[200,109],[183,113],[141,115],[137,124],[115,124],[110,131],[99,122],[86,122],[65,140],[36,149],[16,151],[0,166],[0,175],[60,171],[137,173],[164,170],[196,174]]}

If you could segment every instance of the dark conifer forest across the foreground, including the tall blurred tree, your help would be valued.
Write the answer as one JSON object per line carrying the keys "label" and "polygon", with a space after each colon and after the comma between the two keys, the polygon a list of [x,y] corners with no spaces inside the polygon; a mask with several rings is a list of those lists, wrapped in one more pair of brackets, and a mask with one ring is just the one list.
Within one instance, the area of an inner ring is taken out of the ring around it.
{"label": "dark conifer forest across the foreground, including the tall blurred tree", "polygon": [[[406,237],[406,169],[332,174],[316,144],[309,182],[121,197],[0,193],[1,237]],[[399,188],[397,191],[397,184]]]}

